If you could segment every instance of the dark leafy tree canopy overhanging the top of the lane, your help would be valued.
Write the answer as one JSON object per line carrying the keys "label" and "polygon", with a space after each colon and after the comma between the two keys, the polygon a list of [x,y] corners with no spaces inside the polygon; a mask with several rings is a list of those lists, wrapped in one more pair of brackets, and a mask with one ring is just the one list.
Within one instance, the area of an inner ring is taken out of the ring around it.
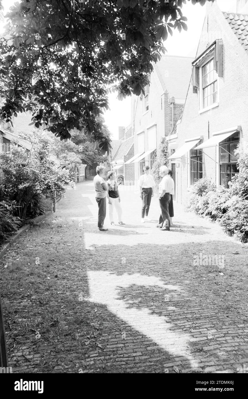
{"label": "dark leafy tree canopy overhanging the top of the lane", "polygon": [[[190,0],[188,0],[190,1]],[[191,0],[205,4],[213,0]],[[102,140],[96,117],[108,93],[144,93],[152,62],[172,29],[187,29],[186,0],[21,0],[0,39],[0,117],[32,111],[33,124],[61,139],[86,128]]]}

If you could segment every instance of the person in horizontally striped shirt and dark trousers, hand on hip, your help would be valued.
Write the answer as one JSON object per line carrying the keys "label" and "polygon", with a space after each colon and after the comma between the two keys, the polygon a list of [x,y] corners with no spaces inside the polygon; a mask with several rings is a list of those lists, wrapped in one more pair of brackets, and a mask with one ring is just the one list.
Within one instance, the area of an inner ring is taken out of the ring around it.
{"label": "person in horizontally striped shirt and dark trousers, hand on hip", "polygon": [[106,217],[106,197],[108,197],[108,185],[104,181],[104,166],[96,166],[96,176],[94,177],[94,188],[96,192],[96,202],[98,203],[98,229],[108,230],[103,226]]}

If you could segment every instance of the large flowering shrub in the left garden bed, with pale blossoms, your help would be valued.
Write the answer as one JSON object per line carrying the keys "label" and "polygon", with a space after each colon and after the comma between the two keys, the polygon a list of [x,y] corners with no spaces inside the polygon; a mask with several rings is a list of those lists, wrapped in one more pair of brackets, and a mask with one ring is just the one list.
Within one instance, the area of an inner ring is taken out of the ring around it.
{"label": "large flowering shrub in the left garden bed, with pale blossoms", "polygon": [[47,142],[42,140],[31,152],[13,146],[11,154],[0,156],[0,162],[4,173],[2,183],[9,190],[4,199],[16,201],[13,215],[20,219],[43,213],[41,195],[55,199],[72,180],[69,170],[58,169],[49,159]]}

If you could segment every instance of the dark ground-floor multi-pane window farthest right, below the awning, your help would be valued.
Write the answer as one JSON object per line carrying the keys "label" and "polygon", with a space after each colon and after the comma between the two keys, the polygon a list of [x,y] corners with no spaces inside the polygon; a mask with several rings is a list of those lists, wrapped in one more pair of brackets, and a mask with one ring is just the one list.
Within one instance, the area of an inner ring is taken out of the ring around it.
{"label": "dark ground-floor multi-pane window farthest right, below the awning", "polygon": [[238,143],[239,132],[236,132],[219,144],[221,186],[228,187],[228,182],[231,182],[232,177],[239,172],[237,168],[237,158],[234,155]]}

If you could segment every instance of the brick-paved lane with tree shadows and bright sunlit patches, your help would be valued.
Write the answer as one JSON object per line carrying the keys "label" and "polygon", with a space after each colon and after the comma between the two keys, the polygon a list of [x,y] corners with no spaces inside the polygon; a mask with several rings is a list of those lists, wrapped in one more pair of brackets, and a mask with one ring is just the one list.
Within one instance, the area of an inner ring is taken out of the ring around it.
{"label": "brick-paved lane with tree shadows and bright sunlit patches", "polygon": [[[98,231],[93,184],[80,183],[2,259],[13,371],[248,369],[247,246],[176,204],[171,231],[157,229],[156,197],[141,224],[138,192],[120,192],[125,226],[107,215],[109,230]],[[19,291],[11,279],[20,262]]]}

